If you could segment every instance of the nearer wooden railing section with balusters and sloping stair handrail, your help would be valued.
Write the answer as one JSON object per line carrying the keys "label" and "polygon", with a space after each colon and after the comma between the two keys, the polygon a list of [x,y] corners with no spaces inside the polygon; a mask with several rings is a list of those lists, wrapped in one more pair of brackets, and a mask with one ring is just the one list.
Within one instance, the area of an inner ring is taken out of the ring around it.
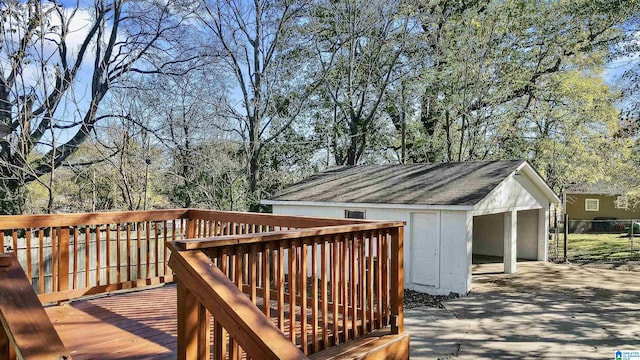
{"label": "nearer wooden railing section with balusters and sloping stair handrail", "polygon": [[[280,347],[284,353],[274,358],[314,354],[388,325],[402,333],[404,223],[340,220],[323,226],[318,219],[285,224],[273,216],[251,216],[244,220],[252,224],[248,234],[187,236],[169,245],[179,289],[180,359],[207,358],[210,351],[216,359],[267,356],[253,352],[264,351],[258,345],[265,335],[251,329],[262,329],[269,339],[286,337],[299,349]],[[202,234],[199,222],[191,224],[189,235]],[[204,228],[210,227],[216,225]],[[229,284],[248,295],[249,305],[237,301],[225,308],[211,300],[247,300]],[[230,316],[245,323],[230,322]]]}

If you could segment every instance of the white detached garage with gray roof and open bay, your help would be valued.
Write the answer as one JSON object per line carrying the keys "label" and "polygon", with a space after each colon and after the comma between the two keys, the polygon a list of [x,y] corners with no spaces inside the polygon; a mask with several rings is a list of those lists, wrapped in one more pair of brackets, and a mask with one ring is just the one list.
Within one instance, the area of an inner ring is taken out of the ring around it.
{"label": "white detached garage with gray roof and open bay", "polygon": [[550,203],[560,199],[525,161],[340,167],[262,203],[276,214],[407,222],[405,286],[466,295],[473,255],[546,260]]}

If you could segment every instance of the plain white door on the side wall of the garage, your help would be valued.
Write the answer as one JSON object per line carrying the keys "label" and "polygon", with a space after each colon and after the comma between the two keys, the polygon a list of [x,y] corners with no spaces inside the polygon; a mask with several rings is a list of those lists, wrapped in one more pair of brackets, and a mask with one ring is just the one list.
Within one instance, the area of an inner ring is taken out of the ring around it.
{"label": "plain white door on the side wall of the garage", "polygon": [[411,282],[440,286],[440,213],[411,214]]}

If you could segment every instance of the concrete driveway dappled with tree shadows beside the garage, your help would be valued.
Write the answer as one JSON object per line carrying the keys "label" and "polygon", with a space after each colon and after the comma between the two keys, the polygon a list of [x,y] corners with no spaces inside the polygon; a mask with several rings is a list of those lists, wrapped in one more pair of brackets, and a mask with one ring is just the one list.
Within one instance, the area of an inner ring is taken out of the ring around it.
{"label": "concrete driveway dappled with tree shadows beside the garage", "polygon": [[446,310],[405,313],[412,359],[614,358],[640,350],[640,273],[550,263],[474,268]]}

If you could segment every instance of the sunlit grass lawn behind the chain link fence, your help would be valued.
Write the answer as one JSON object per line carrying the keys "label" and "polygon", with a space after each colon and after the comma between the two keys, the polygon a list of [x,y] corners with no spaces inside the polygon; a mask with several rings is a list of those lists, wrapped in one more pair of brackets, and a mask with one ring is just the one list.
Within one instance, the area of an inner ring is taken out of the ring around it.
{"label": "sunlit grass lawn behind the chain link fence", "polygon": [[[558,258],[563,256],[564,237],[558,242]],[[549,241],[549,255],[555,254],[555,240]],[[621,262],[640,260],[640,235],[634,236],[633,249],[627,234],[569,234],[567,257],[572,262]]]}

